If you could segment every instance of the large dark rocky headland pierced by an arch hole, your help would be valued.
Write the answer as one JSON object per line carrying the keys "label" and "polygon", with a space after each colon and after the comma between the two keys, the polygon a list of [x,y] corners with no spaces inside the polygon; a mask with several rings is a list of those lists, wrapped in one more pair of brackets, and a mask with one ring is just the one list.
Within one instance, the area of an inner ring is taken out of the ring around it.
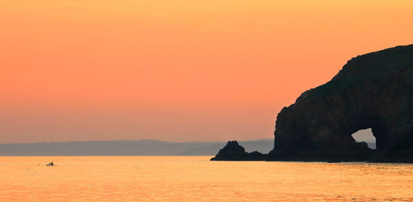
{"label": "large dark rocky headland pierced by an arch hole", "polygon": [[[377,150],[352,134],[372,128]],[[277,116],[273,160],[413,162],[413,45],[352,58]]]}

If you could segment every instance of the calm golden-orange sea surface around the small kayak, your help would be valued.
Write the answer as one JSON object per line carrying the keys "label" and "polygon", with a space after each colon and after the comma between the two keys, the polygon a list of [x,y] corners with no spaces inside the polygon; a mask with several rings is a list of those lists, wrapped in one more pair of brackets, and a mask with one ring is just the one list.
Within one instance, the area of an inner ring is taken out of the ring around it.
{"label": "calm golden-orange sea surface around the small kayak", "polygon": [[210,158],[0,157],[0,201],[413,201],[410,164]]}

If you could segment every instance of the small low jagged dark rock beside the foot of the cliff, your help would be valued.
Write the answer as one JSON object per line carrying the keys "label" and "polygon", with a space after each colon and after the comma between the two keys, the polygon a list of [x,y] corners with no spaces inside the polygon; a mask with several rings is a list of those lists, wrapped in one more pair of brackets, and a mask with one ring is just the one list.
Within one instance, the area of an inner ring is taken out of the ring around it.
{"label": "small low jagged dark rock beside the foot of the cliff", "polygon": [[240,146],[237,141],[229,141],[224,148],[220,149],[218,155],[211,161],[265,161],[266,155],[254,151],[247,153],[244,147]]}

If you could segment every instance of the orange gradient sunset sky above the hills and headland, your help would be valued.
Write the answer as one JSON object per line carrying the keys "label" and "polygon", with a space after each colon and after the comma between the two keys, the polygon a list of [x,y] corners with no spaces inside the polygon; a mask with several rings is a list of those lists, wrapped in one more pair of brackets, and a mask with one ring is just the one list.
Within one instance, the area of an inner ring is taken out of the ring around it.
{"label": "orange gradient sunset sky above the hills and headland", "polygon": [[0,1],[0,143],[272,138],[413,1]]}

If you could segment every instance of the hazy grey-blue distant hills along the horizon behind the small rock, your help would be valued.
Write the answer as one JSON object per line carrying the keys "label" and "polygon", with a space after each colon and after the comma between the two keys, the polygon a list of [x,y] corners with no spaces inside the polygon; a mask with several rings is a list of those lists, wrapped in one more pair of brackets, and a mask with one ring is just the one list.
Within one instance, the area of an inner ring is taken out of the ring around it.
{"label": "hazy grey-blue distant hills along the horizon behind the small rock", "polygon": [[[0,144],[0,156],[160,156],[215,155],[226,142],[163,142],[158,140],[116,140],[88,142],[43,142]],[[240,141],[248,152],[268,153],[273,139]]]}

